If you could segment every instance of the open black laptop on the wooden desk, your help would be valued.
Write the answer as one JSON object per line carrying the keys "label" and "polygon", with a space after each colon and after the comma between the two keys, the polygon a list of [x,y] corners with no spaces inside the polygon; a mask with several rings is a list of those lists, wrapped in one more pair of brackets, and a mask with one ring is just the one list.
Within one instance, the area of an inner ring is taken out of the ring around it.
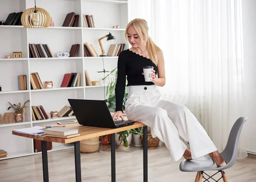
{"label": "open black laptop on the wooden desk", "polygon": [[135,121],[113,120],[105,100],[68,99],[80,125],[120,128]]}

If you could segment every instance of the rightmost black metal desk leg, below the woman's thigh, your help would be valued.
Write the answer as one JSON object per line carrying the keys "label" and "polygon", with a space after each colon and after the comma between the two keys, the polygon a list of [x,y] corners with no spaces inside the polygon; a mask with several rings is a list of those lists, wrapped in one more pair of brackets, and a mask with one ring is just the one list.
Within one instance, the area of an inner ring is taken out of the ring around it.
{"label": "rightmost black metal desk leg, below the woman's thigh", "polygon": [[148,126],[143,126],[143,182],[148,182]]}

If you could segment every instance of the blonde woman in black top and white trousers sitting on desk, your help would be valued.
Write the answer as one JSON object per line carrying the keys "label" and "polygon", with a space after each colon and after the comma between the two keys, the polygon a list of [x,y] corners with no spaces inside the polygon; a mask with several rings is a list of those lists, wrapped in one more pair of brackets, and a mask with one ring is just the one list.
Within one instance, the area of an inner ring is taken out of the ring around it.
{"label": "blonde woman in black top and white trousers sitting on desk", "polygon": [[[164,100],[156,86],[165,85],[163,52],[148,36],[148,25],[143,19],[134,19],[125,30],[131,48],[120,53],[117,66],[116,112],[113,119],[123,118],[122,104],[125,81],[128,81],[128,100],[125,103],[129,120],[151,127],[152,137],[166,144],[172,161],[182,156],[197,159],[209,154],[217,166],[226,165],[206,131],[185,106]],[[145,82],[143,67],[153,66],[151,82]],[[156,75],[158,77],[156,77]],[[189,141],[191,151],[179,138]]]}

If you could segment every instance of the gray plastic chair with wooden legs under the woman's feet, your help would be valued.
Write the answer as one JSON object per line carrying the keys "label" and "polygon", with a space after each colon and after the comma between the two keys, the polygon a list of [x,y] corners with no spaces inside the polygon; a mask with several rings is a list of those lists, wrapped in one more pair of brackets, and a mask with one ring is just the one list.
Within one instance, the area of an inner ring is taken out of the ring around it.
{"label": "gray plastic chair with wooden legs under the woman's feet", "polygon": [[[213,179],[212,176],[215,176],[217,173],[221,173],[221,178],[223,178],[224,182],[227,182],[227,176],[225,175],[224,169],[230,168],[234,165],[237,156],[237,148],[238,142],[241,134],[242,127],[244,122],[247,121],[247,117],[239,117],[236,120],[233,127],[231,128],[230,135],[227,140],[227,145],[222,152],[220,152],[221,156],[227,162],[227,165],[224,167],[217,168],[217,165],[212,161],[211,158],[207,160],[186,160],[184,159],[180,162],[180,171],[184,172],[198,172],[195,178],[195,182],[202,182],[204,178],[205,181],[208,179]],[[212,176],[209,176],[204,171],[218,171]],[[205,178],[203,174],[206,174],[208,177]],[[221,179],[220,178],[220,179]],[[215,180],[218,182],[220,179]],[[209,182],[209,181],[208,181]]]}

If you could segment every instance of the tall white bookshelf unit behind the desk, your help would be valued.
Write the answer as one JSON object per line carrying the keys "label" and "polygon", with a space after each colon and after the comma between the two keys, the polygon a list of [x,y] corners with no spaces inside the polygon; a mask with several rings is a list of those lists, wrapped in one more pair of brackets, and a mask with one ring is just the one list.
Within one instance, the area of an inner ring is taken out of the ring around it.
{"label": "tall white bookshelf unit behind the desk", "polygon": [[[1,0],[0,6],[0,20],[5,21],[10,13],[25,11],[35,5],[34,0]],[[8,102],[23,104],[30,100],[23,122],[0,124],[0,149],[8,152],[8,156],[1,160],[41,154],[34,152],[33,139],[12,135],[12,130],[76,119],[75,116],[50,118],[50,111],[60,111],[64,105],[69,105],[69,98],[104,100],[104,85],[85,85],[84,70],[88,71],[92,81],[99,81],[104,77],[103,73],[97,73],[103,71],[102,57],[84,57],[85,42],[92,44],[98,54],[101,54],[98,39],[109,32],[116,40],[102,40],[105,54],[111,44],[126,43],[124,32],[128,23],[128,0],[36,0],[36,6],[49,12],[54,27],[29,29],[23,26],[0,26],[0,114],[3,117],[4,113],[13,111],[7,110]],[[62,27],[66,15],[70,12],[80,15],[78,27]],[[82,14],[93,14],[95,28],[83,27]],[[112,28],[116,25],[120,28]],[[29,58],[29,43],[48,44],[55,57]],[[80,44],[76,57],[57,57],[59,51],[69,52],[71,46],[76,43]],[[5,55],[12,55],[15,51],[22,51],[23,58],[4,59]],[[118,57],[103,59],[106,71],[116,68]],[[53,88],[32,90],[29,77],[32,72],[38,72],[43,85],[45,81],[52,81]],[[61,88],[64,74],[71,72],[81,72],[81,85]],[[17,76],[21,74],[27,75],[25,91],[18,90]],[[105,91],[106,88],[107,85]],[[32,105],[43,105],[49,119],[32,121]],[[52,143],[50,151],[68,148],[73,147]]]}

